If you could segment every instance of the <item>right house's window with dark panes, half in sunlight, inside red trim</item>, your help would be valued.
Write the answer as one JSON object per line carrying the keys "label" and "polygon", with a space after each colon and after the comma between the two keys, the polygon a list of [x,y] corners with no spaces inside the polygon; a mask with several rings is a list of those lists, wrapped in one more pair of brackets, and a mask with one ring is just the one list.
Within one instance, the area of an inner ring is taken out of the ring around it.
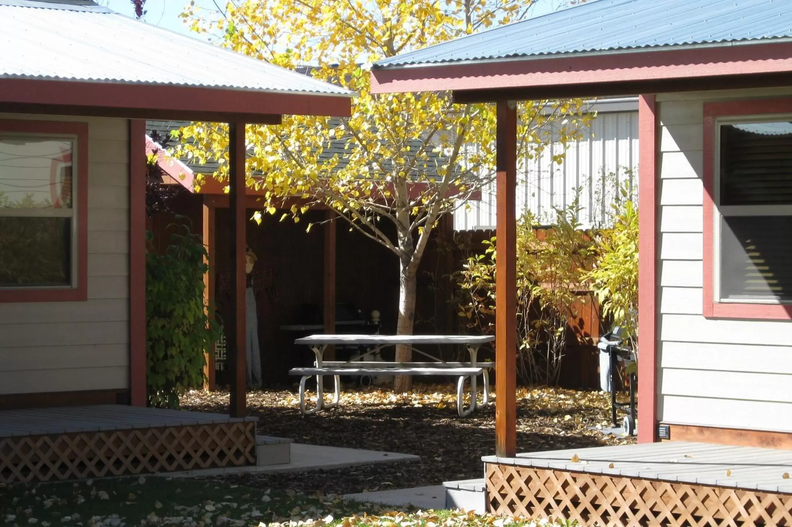
{"label": "right house's window with dark panes, half in sunlight, inside red trim", "polygon": [[792,301],[792,122],[718,130],[718,296]]}

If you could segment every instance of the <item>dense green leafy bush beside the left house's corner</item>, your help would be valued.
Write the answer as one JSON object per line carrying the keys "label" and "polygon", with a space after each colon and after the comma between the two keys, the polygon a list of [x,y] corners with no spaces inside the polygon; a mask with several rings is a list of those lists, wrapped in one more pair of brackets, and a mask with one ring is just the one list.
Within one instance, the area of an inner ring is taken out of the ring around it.
{"label": "dense green leafy bush beside the left house's corner", "polygon": [[179,395],[203,384],[204,354],[219,338],[204,304],[206,249],[181,229],[164,254],[146,255],[148,404],[157,408],[178,408]]}

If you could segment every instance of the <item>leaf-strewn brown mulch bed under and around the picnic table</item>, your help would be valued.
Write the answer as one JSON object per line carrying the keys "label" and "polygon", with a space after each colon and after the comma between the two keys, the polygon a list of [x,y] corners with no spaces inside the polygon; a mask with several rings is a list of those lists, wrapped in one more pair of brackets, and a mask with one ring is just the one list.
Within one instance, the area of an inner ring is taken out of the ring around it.
{"label": "leaf-strewn brown mulch bed under and around the picnic table", "polygon": [[[226,413],[227,392],[188,392],[185,410]],[[341,405],[317,415],[299,413],[294,392],[248,393],[259,433],[313,445],[386,450],[421,456],[421,461],[362,465],[318,472],[227,476],[253,487],[345,494],[437,485],[482,477],[481,457],[494,453],[494,405],[461,419],[449,386],[417,385],[397,395],[387,389],[343,392]],[[517,450],[624,445],[634,438],[607,437],[588,427],[608,426],[607,393],[568,389],[520,389],[517,393]]]}

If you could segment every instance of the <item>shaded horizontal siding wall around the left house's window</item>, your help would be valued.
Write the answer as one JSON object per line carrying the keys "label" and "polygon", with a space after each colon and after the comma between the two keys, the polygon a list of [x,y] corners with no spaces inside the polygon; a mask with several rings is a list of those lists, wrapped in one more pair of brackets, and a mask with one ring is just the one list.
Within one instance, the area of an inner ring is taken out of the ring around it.
{"label": "shaded horizontal siding wall around the left house's window", "polygon": [[0,394],[129,386],[128,121],[89,123],[88,300],[0,304]]}

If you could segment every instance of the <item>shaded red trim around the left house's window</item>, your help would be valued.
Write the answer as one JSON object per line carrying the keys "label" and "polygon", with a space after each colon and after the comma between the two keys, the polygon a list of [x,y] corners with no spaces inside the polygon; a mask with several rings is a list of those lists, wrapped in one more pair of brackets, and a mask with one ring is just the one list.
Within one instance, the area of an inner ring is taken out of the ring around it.
{"label": "shaded red trim around the left house's window", "polygon": [[0,289],[0,302],[85,301],[88,297],[88,123],[0,119],[0,132],[77,137],[77,287]]}

